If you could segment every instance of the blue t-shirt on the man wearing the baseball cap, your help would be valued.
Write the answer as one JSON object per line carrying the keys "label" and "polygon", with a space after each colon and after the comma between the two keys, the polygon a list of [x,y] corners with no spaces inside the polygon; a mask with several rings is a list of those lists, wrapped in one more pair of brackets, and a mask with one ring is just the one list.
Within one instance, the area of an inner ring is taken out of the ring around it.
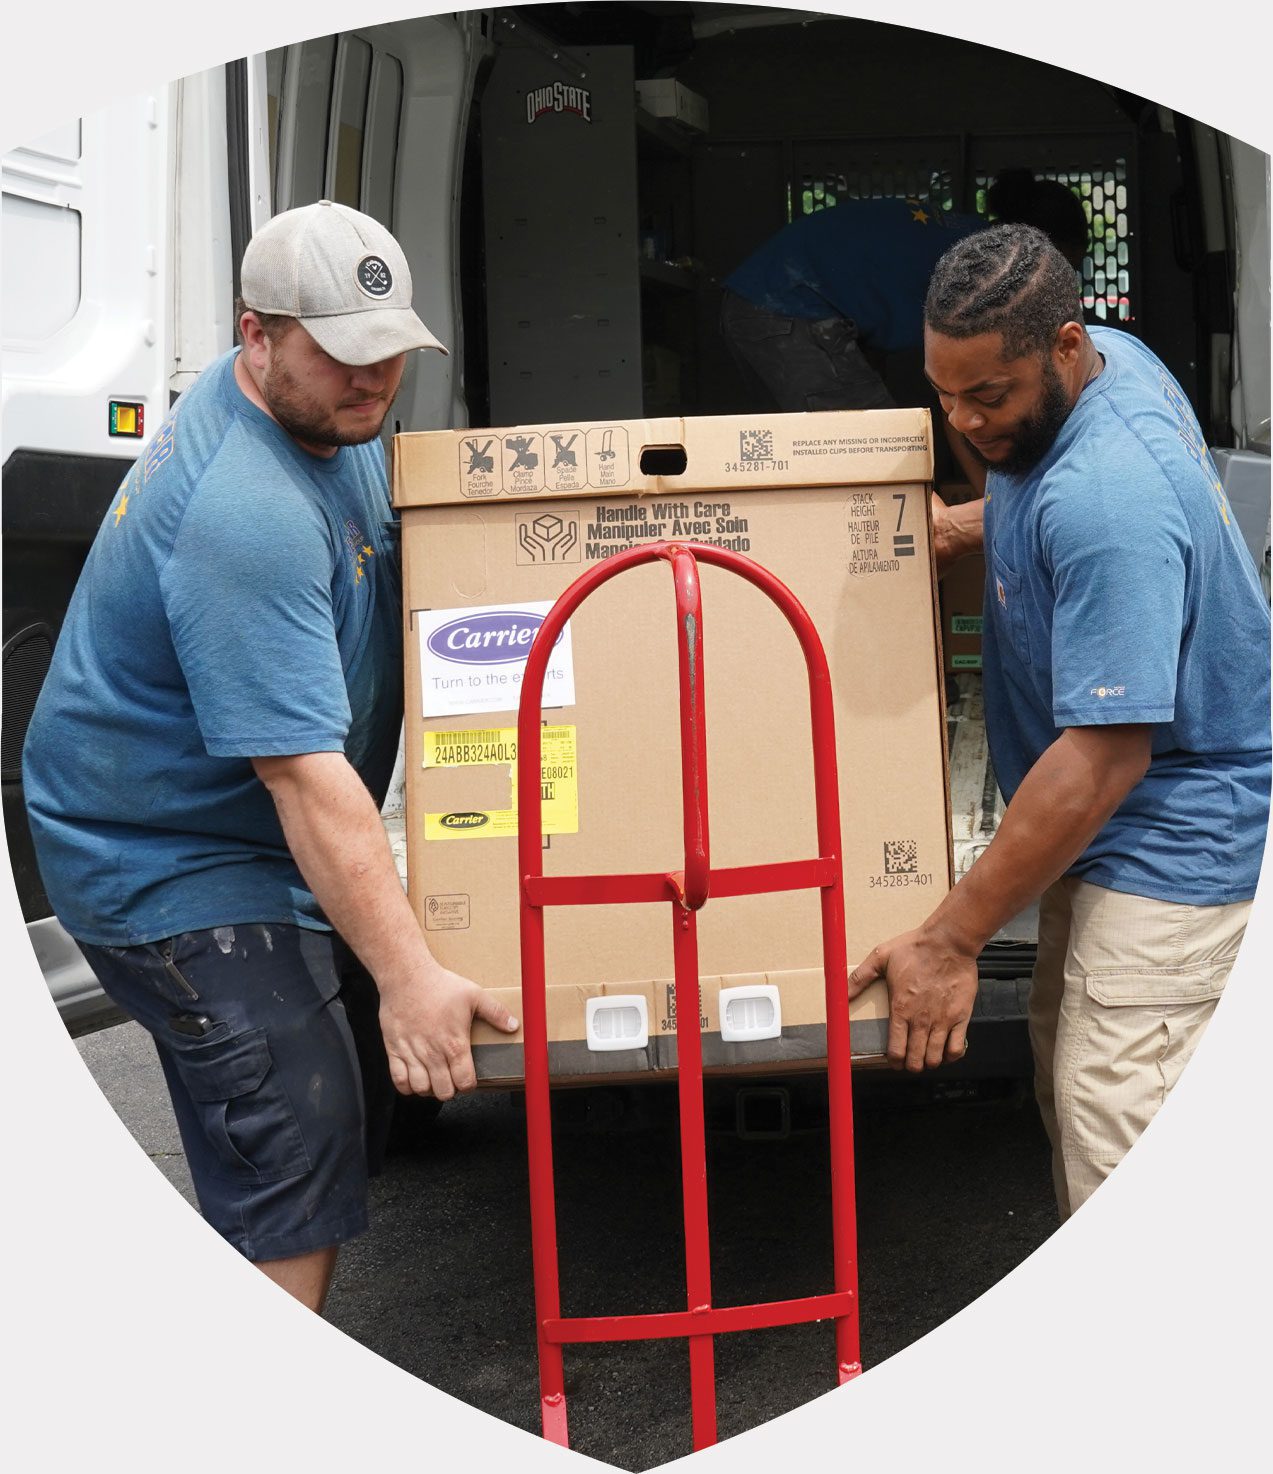
{"label": "blue t-shirt on the man wearing the baseball cap", "polygon": [[177,401],[93,542],[27,734],[40,873],[108,946],[326,927],[250,758],[345,752],[377,802],[402,718],[379,441],[311,455],[239,389]]}

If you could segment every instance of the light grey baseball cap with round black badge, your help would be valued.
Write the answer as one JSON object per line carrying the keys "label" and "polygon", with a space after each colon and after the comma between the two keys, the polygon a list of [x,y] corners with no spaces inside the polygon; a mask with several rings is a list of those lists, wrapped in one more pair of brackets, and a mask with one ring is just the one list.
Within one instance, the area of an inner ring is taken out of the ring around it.
{"label": "light grey baseball cap with round black badge", "polygon": [[295,317],[342,364],[376,364],[413,348],[446,352],[411,311],[402,248],[370,215],[320,199],[267,221],[248,242],[243,301]]}

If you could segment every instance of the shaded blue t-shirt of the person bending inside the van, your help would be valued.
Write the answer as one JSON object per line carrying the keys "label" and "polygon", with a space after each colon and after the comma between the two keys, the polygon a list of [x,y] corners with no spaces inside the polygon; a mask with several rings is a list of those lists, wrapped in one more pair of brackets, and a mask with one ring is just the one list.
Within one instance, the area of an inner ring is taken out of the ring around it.
{"label": "shaded blue t-shirt of the person bending inside the van", "polygon": [[896,352],[924,336],[937,258],[984,226],[913,199],[844,200],[784,226],[723,284],[775,317],[852,318],[859,342]]}

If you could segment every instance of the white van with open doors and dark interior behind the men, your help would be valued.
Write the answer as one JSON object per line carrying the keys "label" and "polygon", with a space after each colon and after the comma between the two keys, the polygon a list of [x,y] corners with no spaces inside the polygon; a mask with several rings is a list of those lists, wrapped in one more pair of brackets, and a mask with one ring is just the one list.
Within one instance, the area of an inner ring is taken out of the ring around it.
{"label": "white van with open doors and dark interior behind the men", "polygon": [[[230,346],[236,265],[273,212],[336,199],[402,243],[417,310],[451,355],[413,355],[386,433],[710,414],[760,407],[716,330],[719,283],[785,220],[860,196],[972,211],[999,170],[1030,165],[1087,203],[1086,311],[1142,336],[1185,386],[1267,588],[1267,164],[1040,62],[732,4],[538,4],[352,29],[12,150],[4,827],[68,1026],[112,1011],[40,884],[27,719],[97,525],[171,399]],[[913,364],[884,368],[894,389],[915,383]],[[962,873],[1002,800],[975,672],[949,694]],[[987,1024],[1020,1023],[1031,927],[1020,918],[986,952]]]}

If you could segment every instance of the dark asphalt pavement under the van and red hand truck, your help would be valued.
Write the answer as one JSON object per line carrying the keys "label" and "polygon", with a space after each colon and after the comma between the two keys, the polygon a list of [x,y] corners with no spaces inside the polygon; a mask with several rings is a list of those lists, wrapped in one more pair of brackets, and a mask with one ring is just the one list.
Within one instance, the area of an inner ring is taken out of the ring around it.
{"label": "dark asphalt pavement under the van and red hand truck", "polygon": [[[122,1024],[81,1057],[156,1169],[193,1204],[149,1036]],[[563,1313],[684,1307],[675,1092],[555,1097]],[[1000,1279],[1056,1226],[1048,1148],[1018,1083],[863,1077],[855,1086],[862,1359],[878,1365]],[[821,1086],[787,1139],[740,1139],[713,1089],[709,1191],[718,1304],[831,1288]],[[538,1433],[520,1097],[451,1103],[373,1184],[373,1228],[342,1251],[327,1318],[405,1371]],[[768,1117],[753,1117],[753,1125]],[[645,1470],[690,1450],[679,1341],[567,1349],[572,1447]],[[828,1391],[828,1324],[716,1341],[719,1434]]]}

